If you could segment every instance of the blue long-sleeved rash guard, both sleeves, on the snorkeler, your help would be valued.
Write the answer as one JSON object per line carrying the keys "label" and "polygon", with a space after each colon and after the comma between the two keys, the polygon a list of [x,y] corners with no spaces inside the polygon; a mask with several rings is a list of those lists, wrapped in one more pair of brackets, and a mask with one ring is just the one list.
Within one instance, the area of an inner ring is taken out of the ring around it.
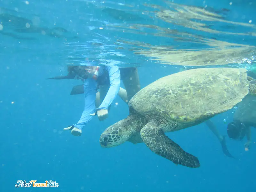
{"label": "blue long-sleeved rash guard, both sleeves, on the snorkeler", "polygon": [[99,108],[95,109],[97,82],[93,78],[84,80],[84,111],[78,123],[74,124],[74,126],[78,129],[82,130],[85,125],[91,121],[92,116],[90,116],[90,114],[96,112],[98,109],[108,109],[109,105],[111,105],[113,100],[116,98],[117,93],[119,92],[121,83],[119,67],[100,67],[99,76],[103,74],[104,69],[109,74],[110,87]]}

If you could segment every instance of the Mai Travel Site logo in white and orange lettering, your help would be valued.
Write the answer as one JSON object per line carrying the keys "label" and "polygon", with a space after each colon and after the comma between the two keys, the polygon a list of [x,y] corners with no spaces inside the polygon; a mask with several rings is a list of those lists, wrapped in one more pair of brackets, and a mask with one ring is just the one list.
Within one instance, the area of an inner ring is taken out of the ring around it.
{"label": "Mai Travel Site logo in white and orange lettering", "polygon": [[56,181],[45,181],[44,183],[37,183],[36,180],[31,180],[28,183],[24,180],[18,180],[15,187],[59,187],[59,183]]}

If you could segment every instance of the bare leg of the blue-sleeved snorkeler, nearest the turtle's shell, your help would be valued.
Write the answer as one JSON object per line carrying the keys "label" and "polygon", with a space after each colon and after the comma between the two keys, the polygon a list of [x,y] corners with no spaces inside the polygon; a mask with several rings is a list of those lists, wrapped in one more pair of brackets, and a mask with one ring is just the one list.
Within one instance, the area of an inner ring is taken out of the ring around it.
{"label": "bare leg of the blue-sleeved snorkeler, nearest the turtle's shell", "polygon": [[121,79],[125,90],[120,88],[119,97],[128,103],[132,97],[140,91],[140,79],[137,68],[122,68]]}

